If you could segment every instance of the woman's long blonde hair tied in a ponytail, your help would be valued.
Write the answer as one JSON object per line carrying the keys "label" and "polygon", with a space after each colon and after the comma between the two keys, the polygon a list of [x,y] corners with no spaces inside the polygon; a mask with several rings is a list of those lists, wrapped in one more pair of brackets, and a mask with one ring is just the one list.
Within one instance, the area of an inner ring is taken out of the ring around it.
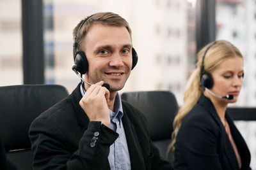
{"label": "woman's long blonde hair tied in a ponytail", "polygon": [[[207,48],[210,47],[208,50]],[[205,50],[207,53],[205,53]],[[203,55],[204,63],[202,63]],[[243,58],[243,55],[236,46],[232,45],[228,41],[214,41],[213,43],[209,43],[204,46],[200,52],[198,52],[198,60],[196,62],[196,69],[193,71],[191,76],[189,77],[188,83],[186,84],[185,92],[184,92],[184,104],[180,107],[176,117],[173,120],[173,132],[172,132],[172,143],[170,144],[168,150],[172,150],[172,154],[174,153],[174,144],[176,142],[176,137],[180,129],[180,125],[182,124],[183,118],[189,113],[189,111],[196,105],[199,97],[201,96],[204,89],[200,87],[200,66],[204,65],[204,70],[202,72],[211,73],[216,67],[220,65],[223,60],[228,57],[239,56]]]}

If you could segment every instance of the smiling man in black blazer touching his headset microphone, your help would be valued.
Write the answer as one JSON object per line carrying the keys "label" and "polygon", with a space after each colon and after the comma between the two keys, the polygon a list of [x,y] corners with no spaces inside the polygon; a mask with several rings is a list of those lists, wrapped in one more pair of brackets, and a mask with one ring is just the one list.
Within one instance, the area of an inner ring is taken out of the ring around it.
{"label": "smiling man in black blazer touching his headset microphone", "polygon": [[31,124],[34,169],[172,169],[149,138],[144,115],[118,94],[138,60],[127,21],[95,13],[73,35],[72,69],[84,78]]}

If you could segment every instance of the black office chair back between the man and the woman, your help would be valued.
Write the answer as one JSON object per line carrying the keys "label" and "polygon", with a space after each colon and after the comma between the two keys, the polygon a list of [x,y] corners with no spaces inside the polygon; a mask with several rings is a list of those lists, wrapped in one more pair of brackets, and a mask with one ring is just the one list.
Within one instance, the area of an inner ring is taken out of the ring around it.
{"label": "black office chair back between the man and the woman", "polygon": [[146,91],[124,92],[121,97],[146,116],[150,138],[166,158],[172,139],[172,122],[179,109],[175,96],[169,91]]}

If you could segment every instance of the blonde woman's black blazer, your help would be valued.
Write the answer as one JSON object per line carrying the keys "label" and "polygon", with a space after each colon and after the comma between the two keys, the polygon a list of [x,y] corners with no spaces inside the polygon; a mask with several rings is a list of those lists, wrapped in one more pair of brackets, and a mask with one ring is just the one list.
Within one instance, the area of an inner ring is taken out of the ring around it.
{"label": "blonde woman's black blazer", "polygon": [[[241,169],[250,168],[250,151],[226,111],[225,118],[241,157]],[[234,149],[225,127],[211,103],[202,94],[198,104],[184,117],[175,143],[175,169],[238,170]]]}

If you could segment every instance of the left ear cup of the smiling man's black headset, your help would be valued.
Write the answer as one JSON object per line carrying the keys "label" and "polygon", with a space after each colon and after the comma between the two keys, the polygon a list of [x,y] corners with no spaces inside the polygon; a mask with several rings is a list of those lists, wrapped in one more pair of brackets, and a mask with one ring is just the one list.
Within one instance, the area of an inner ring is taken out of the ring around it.
{"label": "left ear cup of the smiling man's black headset", "polygon": [[85,74],[88,71],[88,61],[86,59],[86,56],[84,52],[77,52],[75,57],[75,64],[76,64],[76,70],[81,73]]}

